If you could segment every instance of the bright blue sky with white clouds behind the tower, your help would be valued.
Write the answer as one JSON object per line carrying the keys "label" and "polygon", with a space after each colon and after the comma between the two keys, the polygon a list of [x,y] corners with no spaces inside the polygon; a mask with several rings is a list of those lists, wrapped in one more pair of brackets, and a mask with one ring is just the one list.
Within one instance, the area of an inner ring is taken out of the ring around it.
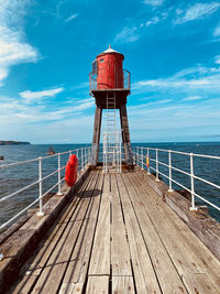
{"label": "bright blue sky with white clouds behind the tower", "polygon": [[220,2],[0,0],[0,140],[91,142],[88,74],[131,72],[133,142],[220,141]]}

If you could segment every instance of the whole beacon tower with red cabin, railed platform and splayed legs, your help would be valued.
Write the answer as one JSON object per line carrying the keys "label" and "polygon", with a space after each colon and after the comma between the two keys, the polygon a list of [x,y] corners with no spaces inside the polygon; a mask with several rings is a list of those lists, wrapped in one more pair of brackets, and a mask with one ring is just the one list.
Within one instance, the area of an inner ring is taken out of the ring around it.
{"label": "whole beacon tower with red cabin, railed platform and splayed legs", "polygon": [[[101,130],[102,110],[109,111],[109,126],[112,126],[112,111],[120,111],[121,134],[124,148],[124,161],[128,165],[133,164],[130,142],[129,121],[127,115],[127,97],[130,95],[130,73],[123,69],[124,55],[112,50],[100,53],[92,63],[92,72],[89,74],[90,95],[96,99],[96,116],[94,124],[94,164],[99,156],[99,141]],[[111,116],[111,117],[110,117]],[[108,121],[107,121],[108,124]],[[112,129],[107,131],[112,132]]]}

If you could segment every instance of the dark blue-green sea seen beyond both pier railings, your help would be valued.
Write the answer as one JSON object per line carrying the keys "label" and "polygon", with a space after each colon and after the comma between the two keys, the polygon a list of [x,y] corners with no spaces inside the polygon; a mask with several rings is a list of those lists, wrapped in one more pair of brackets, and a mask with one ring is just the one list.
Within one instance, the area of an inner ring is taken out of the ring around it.
{"label": "dark blue-green sea seen beyond both pier railings", "polygon": [[[76,150],[90,146],[90,144],[53,144],[56,153],[65,152],[68,150]],[[182,142],[182,143],[133,143],[132,148],[135,150],[136,146],[145,148],[157,148],[161,150],[173,150],[195,154],[215,155],[220,156],[220,142]],[[48,150],[48,144],[30,144],[30,145],[0,145],[0,156],[4,160],[0,161],[0,165],[15,163],[32,159],[37,159],[38,156],[46,156]],[[146,151],[144,151],[146,152]],[[145,155],[146,153],[144,153]],[[152,159],[152,161],[151,161]],[[150,150],[150,164],[151,167],[155,168],[155,151]],[[62,166],[66,164],[68,160],[68,154],[62,156]],[[158,161],[168,163],[168,154],[163,151],[158,151]],[[190,173],[190,159],[188,155],[172,154],[172,165]],[[160,164],[160,172],[168,175],[168,168]],[[51,157],[43,161],[43,176],[54,172],[57,168],[57,157]],[[220,159],[205,159],[197,157],[194,159],[194,174],[202,177],[207,181],[215,183],[220,186]],[[64,171],[62,172],[64,176]],[[177,171],[173,171],[173,178],[180,183],[182,185],[190,188],[190,177],[182,174]],[[22,187],[37,181],[38,178],[38,163],[32,162],[24,165],[11,166],[8,168],[0,168],[0,198],[8,196],[9,194],[21,189]],[[161,175],[162,181],[168,184],[167,178]],[[47,178],[43,182],[43,193],[47,192],[57,183],[57,174]],[[174,184],[174,189],[183,189],[183,187]],[[56,192],[54,189],[54,192]],[[195,179],[195,192],[206,198],[207,200],[213,203],[220,207],[220,190],[213,186],[202,183],[199,179]],[[38,185],[21,192],[11,198],[0,202],[0,226],[12,218],[15,214],[24,209],[28,205],[34,202],[38,197]],[[196,198],[197,205],[206,205],[202,200]],[[220,221],[220,211],[210,207],[209,214],[211,217]]]}

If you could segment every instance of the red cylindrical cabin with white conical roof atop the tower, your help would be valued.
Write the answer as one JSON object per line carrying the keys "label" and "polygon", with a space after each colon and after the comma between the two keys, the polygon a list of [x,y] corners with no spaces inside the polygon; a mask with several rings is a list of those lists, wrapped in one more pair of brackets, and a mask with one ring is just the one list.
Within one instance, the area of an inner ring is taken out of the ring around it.
{"label": "red cylindrical cabin with white conical roof atop the tower", "polygon": [[123,88],[123,54],[111,47],[97,56],[97,89]]}

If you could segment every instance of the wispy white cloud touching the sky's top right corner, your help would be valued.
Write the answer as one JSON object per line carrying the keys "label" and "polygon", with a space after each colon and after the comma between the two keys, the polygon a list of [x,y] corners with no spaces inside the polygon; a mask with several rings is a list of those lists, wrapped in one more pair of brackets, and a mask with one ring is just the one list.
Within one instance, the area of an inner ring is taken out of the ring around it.
{"label": "wispy white cloud touching the sky's top right corner", "polygon": [[187,10],[177,10],[178,15],[176,23],[182,24],[188,21],[199,20],[215,13],[220,7],[219,2],[196,3]]}

